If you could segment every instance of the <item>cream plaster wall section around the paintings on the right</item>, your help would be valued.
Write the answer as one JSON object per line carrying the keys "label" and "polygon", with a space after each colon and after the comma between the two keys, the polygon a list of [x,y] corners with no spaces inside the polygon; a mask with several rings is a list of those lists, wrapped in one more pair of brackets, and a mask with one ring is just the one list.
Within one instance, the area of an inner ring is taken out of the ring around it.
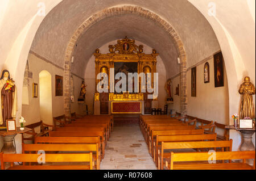
{"label": "cream plaster wall section around the paintings on the right", "polygon": [[204,64],[196,66],[196,97],[191,96],[191,69],[187,71],[187,114],[205,120],[229,124],[229,92],[224,68],[224,87],[214,87],[213,58],[207,61],[210,82],[204,83]]}

